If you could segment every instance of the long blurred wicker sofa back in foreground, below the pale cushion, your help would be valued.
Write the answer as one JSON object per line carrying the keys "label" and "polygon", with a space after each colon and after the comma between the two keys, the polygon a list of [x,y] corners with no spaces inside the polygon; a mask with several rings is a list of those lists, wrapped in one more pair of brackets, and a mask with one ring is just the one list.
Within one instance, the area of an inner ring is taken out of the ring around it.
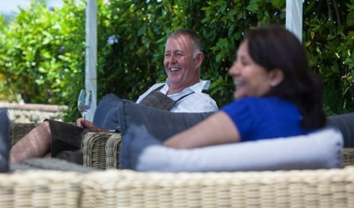
{"label": "long blurred wicker sofa back in foreground, below the pale cushion", "polygon": [[83,181],[84,207],[353,207],[354,166],[316,171],[136,173]]}

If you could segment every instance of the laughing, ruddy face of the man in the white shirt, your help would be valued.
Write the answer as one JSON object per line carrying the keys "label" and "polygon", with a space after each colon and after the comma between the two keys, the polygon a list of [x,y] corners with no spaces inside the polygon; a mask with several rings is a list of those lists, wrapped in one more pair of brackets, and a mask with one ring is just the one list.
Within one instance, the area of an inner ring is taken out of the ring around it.
{"label": "laughing, ruddy face of the man in the white shirt", "polygon": [[[170,37],[165,48],[164,67],[172,88],[182,90],[199,82],[199,72],[203,54],[193,58],[194,46],[188,35]],[[181,90],[181,91],[182,91]]]}

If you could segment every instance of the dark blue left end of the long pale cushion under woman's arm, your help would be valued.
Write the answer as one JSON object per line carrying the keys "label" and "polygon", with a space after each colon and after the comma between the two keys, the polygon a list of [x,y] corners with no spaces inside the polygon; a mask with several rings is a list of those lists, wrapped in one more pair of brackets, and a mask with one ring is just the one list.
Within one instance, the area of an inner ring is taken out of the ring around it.
{"label": "dark blue left end of the long pale cushion under woman's arm", "polygon": [[148,133],[145,127],[131,125],[122,138],[122,157],[120,169],[136,169],[139,156],[145,147],[162,144]]}

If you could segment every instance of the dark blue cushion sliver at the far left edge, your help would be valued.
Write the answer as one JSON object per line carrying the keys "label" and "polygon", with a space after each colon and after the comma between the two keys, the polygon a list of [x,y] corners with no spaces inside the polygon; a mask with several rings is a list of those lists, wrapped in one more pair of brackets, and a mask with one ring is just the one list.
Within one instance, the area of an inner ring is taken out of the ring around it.
{"label": "dark blue cushion sliver at the far left edge", "polygon": [[0,109],[0,172],[6,173],[9,170],[9,137],[10,122],[7,117],[7,110]]}

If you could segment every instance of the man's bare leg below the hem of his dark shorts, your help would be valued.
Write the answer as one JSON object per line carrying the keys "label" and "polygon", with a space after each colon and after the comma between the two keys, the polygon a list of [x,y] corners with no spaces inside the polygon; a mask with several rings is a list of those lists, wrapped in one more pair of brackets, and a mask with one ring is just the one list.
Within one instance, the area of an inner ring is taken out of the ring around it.
{"label": "man's bare leg below the hem of his dark shorts", "polygon": [[28,158],[44,157],[50,152],[51,133],[48,121],[33,128],[10,150],[10,162],[22,162]]}

